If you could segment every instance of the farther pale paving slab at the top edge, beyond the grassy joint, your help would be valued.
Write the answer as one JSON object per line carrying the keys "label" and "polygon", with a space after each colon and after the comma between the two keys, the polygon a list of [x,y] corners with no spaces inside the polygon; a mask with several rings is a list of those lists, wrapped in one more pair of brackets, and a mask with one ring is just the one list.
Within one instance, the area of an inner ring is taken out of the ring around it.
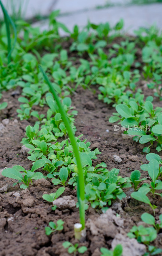
{"label": "farther pale paving slab at the top edge, beyond the grassy joint", "polygon": [[[12,14],[19,10],[25,19],[37,15],[47,16],[53,10],[60,10],[61,14],[76,11],[86,11],[104,6],[125,5],[131,0],[1,0],[7,11]],[[1,12],[0,12],[1,13]]]}

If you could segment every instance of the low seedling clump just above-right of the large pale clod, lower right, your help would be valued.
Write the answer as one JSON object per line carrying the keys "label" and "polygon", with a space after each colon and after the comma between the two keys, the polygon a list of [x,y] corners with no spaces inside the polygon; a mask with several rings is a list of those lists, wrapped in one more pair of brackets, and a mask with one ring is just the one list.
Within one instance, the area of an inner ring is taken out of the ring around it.
{"label": "low seedling clump just above-right of the large pale clod, lower right", "polygon": [[157,231],[155,228],[145,228],[142,225],[133,228],[127,234],[130,238],[136,238],[138,243],[149,245],[150,242],[154,241],[157,237]]}

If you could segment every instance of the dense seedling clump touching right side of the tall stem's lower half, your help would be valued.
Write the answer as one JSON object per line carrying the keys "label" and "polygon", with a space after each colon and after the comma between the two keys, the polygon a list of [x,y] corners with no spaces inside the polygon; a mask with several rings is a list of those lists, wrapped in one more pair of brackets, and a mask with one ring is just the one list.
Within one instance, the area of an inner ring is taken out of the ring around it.
{"label": "dense seedling clump touching right side of the tall stem's lower half", "polygon": [[[102,165],[101,165],[102,166]],[[126,178],[118,176],[119,169],[112,169],[110,172],[106,169],[98,173],[87,173],[85,198],[91,203],[92,208],[103,208],[106,204],[112,204],[112,200],[126,197],[122,188],[129,188],[131,184]]]}

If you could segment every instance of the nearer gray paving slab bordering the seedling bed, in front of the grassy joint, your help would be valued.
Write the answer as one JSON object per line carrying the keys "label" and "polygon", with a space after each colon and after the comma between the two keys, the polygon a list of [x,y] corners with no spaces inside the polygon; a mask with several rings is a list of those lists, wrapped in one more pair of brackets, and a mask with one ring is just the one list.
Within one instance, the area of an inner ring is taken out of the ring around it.
{"label": "nearer gray paving slab bordering the seedling bed, in front of the grassy joint", "polygon": [[[150,27],[153,24],[162,29],[161,11],[162,4],[116,6],[59,16],[57,20],[66,24],[69,30],[72,31],[75,24],[83,28],[87,24],[87,20],[95,24],[110,22],[111,26],[114,26],[120,18],[123,18],[124,31],[133,34],[135,29]],[[41,30],[48,29],[48,20],[36,22],[34,26],[40,26]],[[64,36],[65,32],[60,31],[60,35]]]}

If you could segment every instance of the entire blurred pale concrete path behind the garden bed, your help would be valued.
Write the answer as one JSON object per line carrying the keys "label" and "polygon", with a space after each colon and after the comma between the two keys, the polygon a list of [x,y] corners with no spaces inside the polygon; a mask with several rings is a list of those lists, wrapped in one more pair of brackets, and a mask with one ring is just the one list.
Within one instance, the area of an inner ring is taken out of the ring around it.
{"label": "entire blurred pale concrete path behind the garden bed", "polygon": [[[36,15],[48,17],[53,10],[60,9],[58,21],[64,23],[70,31],[75,24],[81,28],[87,24],[87,20],[99,24],[110,22],[111,26],[117,23],[120,18],[124,19],[124,30],[133,34],[139,27],[149,27],[156,24],[162,29],[162,3],[147,5],[131,5],[132,0],[2,0],[9,13],[14,8],[19,9],[19,4],[23,3],[21,9],[23,17],[31,19]],[[2,13],[0,13],[0,17]],[[36,22],[34,26],[39,26],[41,30],[48,29],[48,20]],[[65,35],[64,31],[60,31]]]}

